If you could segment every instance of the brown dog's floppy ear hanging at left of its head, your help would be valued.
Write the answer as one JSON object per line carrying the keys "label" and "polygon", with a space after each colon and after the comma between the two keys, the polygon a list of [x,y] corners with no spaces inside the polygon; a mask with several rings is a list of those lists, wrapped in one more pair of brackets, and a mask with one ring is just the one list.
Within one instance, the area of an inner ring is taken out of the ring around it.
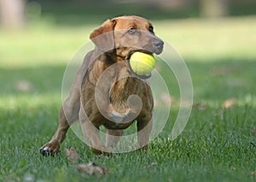
{"label": "brown dog's floppy ear hanging at left of its head", "polygon": [[115,24],[116,20],[107,20],[90,34],[90,40],[104,53],[113,51],[113,29]]}

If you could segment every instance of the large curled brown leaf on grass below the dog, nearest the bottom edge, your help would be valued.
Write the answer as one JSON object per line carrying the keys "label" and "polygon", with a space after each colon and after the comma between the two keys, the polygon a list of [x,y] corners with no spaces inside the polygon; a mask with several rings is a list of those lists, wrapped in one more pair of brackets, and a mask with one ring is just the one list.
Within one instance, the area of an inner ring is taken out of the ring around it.
{"label": "large curled brown leaf on grass below the dog, nearest the bottom edge", "polygon": [[79,164],[77,169],[79,173],[89,174],[89,175],[95,174],[98,177],[106,175],[108,173],[112,173],[112,171],[109,168],[105,168],[101,165],[96,164],[95,162],[90,162],[87,164]]}

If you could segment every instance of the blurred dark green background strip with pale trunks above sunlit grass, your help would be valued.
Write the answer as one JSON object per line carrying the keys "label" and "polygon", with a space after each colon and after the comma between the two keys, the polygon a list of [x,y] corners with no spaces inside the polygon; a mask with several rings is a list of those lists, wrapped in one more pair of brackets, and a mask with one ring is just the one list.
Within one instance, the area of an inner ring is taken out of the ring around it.
{"label": "blurred dark green background strip with pale trunks above sunlit grass", "polygon": [[81,25],[123,14],[150,20],[219,18],[255,14],[253,0],[1,0],[4,28],[27,26],[35,20],[57,25]]}

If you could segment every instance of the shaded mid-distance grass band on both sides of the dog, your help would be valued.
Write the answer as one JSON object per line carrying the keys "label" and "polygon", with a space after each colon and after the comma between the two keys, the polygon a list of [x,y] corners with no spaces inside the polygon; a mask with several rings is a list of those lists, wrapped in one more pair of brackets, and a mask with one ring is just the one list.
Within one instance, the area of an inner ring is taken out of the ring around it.
{"label": "shaded mid-distance grass band on both sides of the dog", "polygon": [[[189,59],[186,59],[189,60]],[[256,61],[253,60],[206,60],[188,61],[192,77],[195,100],[219,100],[230,97],[242,97],[256,93],[254,86]],[[164,77],[174,97],[179,90],[176,78],[164,65],[160,65],[160,75]],[[60,94],[61,83],[66,65],[34,66],[7,70],[0,68],[0,93],[15,94]]]}

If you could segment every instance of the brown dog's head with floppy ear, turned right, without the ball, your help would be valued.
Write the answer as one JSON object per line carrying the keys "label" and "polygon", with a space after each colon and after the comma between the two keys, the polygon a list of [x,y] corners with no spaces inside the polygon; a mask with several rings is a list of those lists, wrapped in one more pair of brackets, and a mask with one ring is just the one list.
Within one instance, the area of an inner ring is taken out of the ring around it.
{"label": "brown dog's head with floppy ear, turned right, without the ball", "polygon": [[160,54],[164,46],[154,35],[152,24],[138,16],[107,20],[90,34],[90,39],[103,53],[116,55],[116,61],[129,60],[136,51]]}

